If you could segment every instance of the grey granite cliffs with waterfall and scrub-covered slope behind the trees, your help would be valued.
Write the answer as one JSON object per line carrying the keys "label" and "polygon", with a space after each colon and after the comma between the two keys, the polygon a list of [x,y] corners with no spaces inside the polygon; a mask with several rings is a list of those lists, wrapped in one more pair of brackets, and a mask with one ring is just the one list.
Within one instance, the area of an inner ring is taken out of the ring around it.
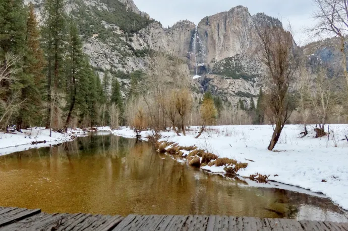
{"label": "grey granite cliffs with waterfall and scrub-covered slope behind the trees", "polygon": [[[41,19],[44,0],[33,1]],[[127,74],[148,71],[149,52],[155,50],[181,57],[183,70],[201,93],[210,90],[233,104],[242,98],[246,105],[256,97],[265,74],[255,59],[256,28],[282,26],[265,14],[251,16],[242,6],[206,17],[198,25],[180,21],[168,29],[150,20],[132,0],[74,0],[67,3],[66,12],[79,25],[84,52],[100,78],[108,70],[119,79],[124,94],[130,82]],[[120,72],[126,75],[121,78]]]}

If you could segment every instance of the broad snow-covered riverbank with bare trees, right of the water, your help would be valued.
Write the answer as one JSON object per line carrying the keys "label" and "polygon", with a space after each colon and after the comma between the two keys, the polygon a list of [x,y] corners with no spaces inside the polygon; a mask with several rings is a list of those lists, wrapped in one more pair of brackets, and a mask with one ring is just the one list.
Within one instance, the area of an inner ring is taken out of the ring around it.
{"label": "broad snow-covered riverbank with bare trees, right of the water", "polygon": [[[348,125],[330,125],[330,141],[328,137],[314,138],[313,129],[308,126],[309,134],[301,138],[303,126],[286,125],[273,151],[267,150],[273,132],[270,125],[212,126],[198,139],[194,138],[198,127],[191,127],[187,136],[177,136],[174,132],[161,135],[167,142],[195,145],[219,158],[248,163],[246,169],[239,170],[240,176],[270,175],[269,180],[323,193],[348,209],[348,142],[344,137]],[[113,133],[135,137],[129,128]],[[147,134],[150,132],[142,132],[143,137]],[[202,168],[224,172],[224,166]]]}

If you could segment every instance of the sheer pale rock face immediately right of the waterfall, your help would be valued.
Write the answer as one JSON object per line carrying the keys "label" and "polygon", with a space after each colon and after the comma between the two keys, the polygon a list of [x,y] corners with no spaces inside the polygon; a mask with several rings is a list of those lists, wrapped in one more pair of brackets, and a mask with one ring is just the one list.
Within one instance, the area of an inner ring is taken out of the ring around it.
{"label": "sheer pale rock face immediately right of the waterfall", "polygon": [[202,61],[211,63],[236,54],[254,54],[257,33],[248,9],[235,7],[228,12],[206,17],[198,24],[198,40],[206,52]]}

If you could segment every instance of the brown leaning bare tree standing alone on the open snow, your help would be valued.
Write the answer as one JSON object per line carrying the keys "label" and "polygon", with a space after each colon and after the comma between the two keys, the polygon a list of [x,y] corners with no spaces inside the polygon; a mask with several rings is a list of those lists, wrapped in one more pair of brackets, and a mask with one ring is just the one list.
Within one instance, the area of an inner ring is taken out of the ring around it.
{"label": "brown leaning bare tree standing alone on the open snow", "polygon": [[293,36],[283,28],[264,26],[258,28],[261,46],[261,60],[268,67],[266,80],[268,117],[275,128],[269,150],[273,150],[280,133],[292,113],[289,88],[295,79],[299,61]]}

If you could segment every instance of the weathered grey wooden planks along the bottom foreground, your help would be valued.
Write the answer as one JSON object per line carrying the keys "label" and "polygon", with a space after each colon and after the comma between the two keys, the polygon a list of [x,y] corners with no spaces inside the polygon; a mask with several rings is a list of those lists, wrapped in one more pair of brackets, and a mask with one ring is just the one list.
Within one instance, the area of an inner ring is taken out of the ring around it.
{"label": "weathered grey wooden planks along the bottom foreground", "polygon": [[297,221],[234,216],[172,216],[172,215],[91,215],[41,212],[40,209],[0,207],[0,231],[3,230],[48,230],[48,231],[167,231],[167,230],[337,230],[348,231],[348,223]]}

